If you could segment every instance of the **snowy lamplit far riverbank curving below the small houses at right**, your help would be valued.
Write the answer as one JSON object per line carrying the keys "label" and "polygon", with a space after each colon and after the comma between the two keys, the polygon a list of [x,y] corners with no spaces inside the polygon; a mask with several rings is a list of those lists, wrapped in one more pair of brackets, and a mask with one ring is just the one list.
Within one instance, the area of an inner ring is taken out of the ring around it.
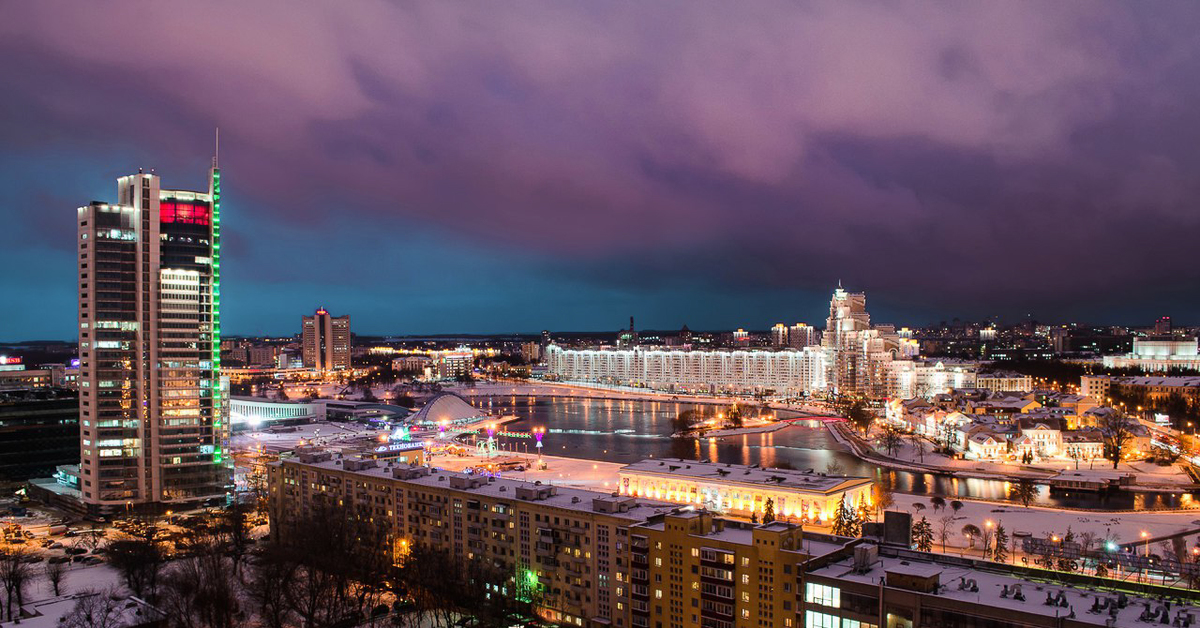
{"label": "snowy lamplit far riverbank curving below the small houses at right", "polygon": [[[918,451],[907,438],[898,448],[896,455],[889,456],[878,451],[872,443],[863,438],[858,431],[846,421],[829,421],[827,426],[833,437],[860,460],[895,471],[935,473],[953,476],[956,478],[1004,482],[1027,479],[1037,484],[1050,484],[1051,479],[1063,476],[1087,477],[1090,474],[1103,476],[1112,472],[1108,465],[1104,465],[1098,469],[1087,468],[1086,466],[1076,469],[1073,463],[1062,463],[1057,466],[1019,466],[1002,462],[953,459],[942,454],[932,453],[930,450],[932,449],[930,443],[925,443],[924,445],[929,449]],[[1164,494],[1186,494],[1200,490],[1200,486],[1193,484],[1187,473],[1178,468],[1147,468],[1146,463],[1141,462],[1122,462],[1117,472],[1128,473],[1134,477],[1134,484],[1128,486],[1129,490]]]}

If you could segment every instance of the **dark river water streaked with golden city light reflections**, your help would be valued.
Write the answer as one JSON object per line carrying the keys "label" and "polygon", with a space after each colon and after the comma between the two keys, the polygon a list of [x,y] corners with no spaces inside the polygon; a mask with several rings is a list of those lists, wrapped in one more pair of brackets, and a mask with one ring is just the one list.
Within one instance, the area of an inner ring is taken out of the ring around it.
{"label": "dark river water streaked with golden city light reflections", "polygon": [[[838,466],[850,476],[882,479],[900,492],[1004,500],[1009,483],[955,478],[932,473],[882,469],[847,453],[820,421],[797,421],[794,427],[725,438],[671,438],[671,421],[684,409],[715,415],[725,408],[713,405],[619,399],[499,396],[476,399],[475,405],[498,414],[515,414],[512,431],[546,427],[545,453],[611,462],[636,462],[647,457],[686,457],[739,465],[791,465],[798,469],[826,471]],[[516,439],[514,439],[516,441]],[[529,443],[505,443],[521,450]],[[1158,492],[1050,494],[1038,488],[1037,503],[1075,508],[1136,509],[1190,506],[1192,496]]]}

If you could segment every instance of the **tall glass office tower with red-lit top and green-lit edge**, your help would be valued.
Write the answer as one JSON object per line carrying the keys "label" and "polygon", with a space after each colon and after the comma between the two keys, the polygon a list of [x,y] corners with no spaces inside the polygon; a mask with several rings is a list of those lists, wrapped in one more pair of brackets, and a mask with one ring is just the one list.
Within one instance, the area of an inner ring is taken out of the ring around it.
{"label": "tall glass office tower with red-lit top and green-lit edge", "polygon": [[221,172],[208,192],[118,179],[78,210],[79,490],[96,514],[222,501]]}

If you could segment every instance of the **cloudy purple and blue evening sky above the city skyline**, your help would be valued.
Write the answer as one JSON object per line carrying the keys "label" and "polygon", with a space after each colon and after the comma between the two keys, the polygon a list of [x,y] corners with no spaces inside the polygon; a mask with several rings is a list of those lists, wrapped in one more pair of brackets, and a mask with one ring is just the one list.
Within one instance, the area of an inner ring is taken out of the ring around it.
{"label": "cloudy purple and blue evening sky above the city skyline", "polygon": [[223,328],[1198,323],[1200,2],[0,10],[0,340],[76,335],[74,209],[221,127]]}

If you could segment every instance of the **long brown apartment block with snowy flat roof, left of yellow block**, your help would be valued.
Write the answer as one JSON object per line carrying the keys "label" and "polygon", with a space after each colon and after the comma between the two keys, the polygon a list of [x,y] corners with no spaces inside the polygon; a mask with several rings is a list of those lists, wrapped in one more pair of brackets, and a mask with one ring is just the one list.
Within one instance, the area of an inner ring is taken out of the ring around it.
{"label": "long brown apartment block with snowy flat roof, left of yellow block", "polygon": [[424,544],[536,580],[539,615],[557,624],[629,627],[629,528],[674,504],[306,453],[272,463],[271,534],[317,503],[383,521],[394,551]]}

